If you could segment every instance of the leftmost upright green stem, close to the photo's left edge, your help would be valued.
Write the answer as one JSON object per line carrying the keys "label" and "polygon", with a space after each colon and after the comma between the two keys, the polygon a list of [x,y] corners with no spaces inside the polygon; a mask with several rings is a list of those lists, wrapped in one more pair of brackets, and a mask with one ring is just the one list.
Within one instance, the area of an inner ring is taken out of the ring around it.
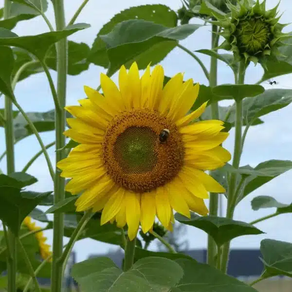
{"label": "leftmost upright green stem, close to the photo's left edge", "polygon": [[[10,0],[4,0],[3,18],[10,16]],[[15,172],[14,158],[14,127],[13,127],[13,110],[12,100],[5,96],[4,101],[4,119],[5,119],[5,142],[6,142],[6,161],[7,174]],[[4,226],[4,225],[3,225]],[[8,292],[16,292],[16,273],[17,273],[17,237],[8,229],[7,239],[10,253],[7,258],[8,272]]]}

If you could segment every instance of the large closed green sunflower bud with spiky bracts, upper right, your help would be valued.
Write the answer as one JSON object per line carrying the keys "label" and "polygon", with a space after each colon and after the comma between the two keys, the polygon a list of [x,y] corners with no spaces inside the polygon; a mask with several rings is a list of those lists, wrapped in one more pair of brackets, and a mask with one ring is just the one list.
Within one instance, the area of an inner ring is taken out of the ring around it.
{"label": "large closed green sunflower bud with spiky bracts, upper right", "polygon": [[229,2],[231,18],[218,19],[224,28],[220,35],[226,39],[219,49],[232,51],[236,61],[259,62],[263,66],[267,56],[280,55],[278,47],[290,36],[282,33],[287,24],[278,23],[278,5],[266,11],[266,0],[241,0],[237,5]]}

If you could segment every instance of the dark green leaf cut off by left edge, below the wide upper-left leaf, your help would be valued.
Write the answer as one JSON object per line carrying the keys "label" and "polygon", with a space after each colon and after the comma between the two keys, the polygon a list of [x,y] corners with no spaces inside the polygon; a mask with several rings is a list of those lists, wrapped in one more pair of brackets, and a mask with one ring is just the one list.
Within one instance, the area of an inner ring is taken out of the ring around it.
{"label": "dark green leaf cut off by left edge, below the wide upper-left leaf", "polygon": [[0,92],[13,99],[14,94],[11,87],[11,78],[14,57],[13,52],[9,47],[0,47],[0,64]]}

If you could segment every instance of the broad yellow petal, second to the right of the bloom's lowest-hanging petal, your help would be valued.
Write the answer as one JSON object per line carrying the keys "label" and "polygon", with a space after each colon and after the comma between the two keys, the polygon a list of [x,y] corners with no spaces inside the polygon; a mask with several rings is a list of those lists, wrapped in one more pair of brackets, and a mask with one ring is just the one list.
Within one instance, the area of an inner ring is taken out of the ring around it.
{"label": "broad yellow petal, second to the right of the bloom's lowest-hanging petal", "polygon": [[171,213],[168,194],[169,194],[168,184],[156,189],[157,217],[165,228],[169,225]]}

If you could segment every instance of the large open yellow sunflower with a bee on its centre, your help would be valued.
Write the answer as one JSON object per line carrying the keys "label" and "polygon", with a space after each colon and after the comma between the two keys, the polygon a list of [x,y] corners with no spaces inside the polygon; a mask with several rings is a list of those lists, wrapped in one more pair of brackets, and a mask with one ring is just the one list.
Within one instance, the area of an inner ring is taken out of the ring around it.
{"label": "large open yellow sunflower with a bee on its centre", "polygon": [[223,122],[199,118],[207,103],[187,114],[199,84],[183,74],[165,86],[164,70],[148,66],[140,78],[136,63],[119,72],[119,89],[101,74],[103,94],[85,86],[88,99],[65,109],[70,129],[64,134],[80,143],[57,166],[72,178],[66,190],[77,199],[76,211],[102,210],[101,224],[128,224],[133,239],[141,223],[149,231],[155,217],[171,230],[173,210],[207,215],[208,192],[225,192],[204,170],[223,166],[230,153],[220,146],[228,133]]}

